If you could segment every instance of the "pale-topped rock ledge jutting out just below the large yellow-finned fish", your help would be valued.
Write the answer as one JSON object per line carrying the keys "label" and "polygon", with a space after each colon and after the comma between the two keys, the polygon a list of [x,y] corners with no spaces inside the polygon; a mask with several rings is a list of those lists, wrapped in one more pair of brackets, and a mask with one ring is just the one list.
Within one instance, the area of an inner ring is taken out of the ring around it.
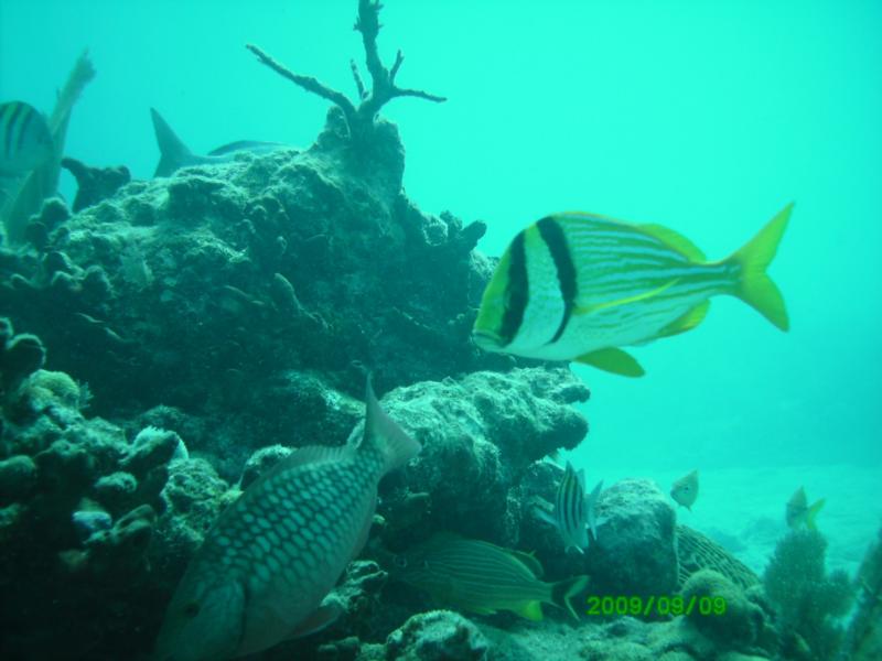
{"label": "pale-topped rock ledge jutting out just below the large yellow-finned fish", "polygon": [[571,404],[588,395],[569,371],[537,368],[416,383],[384,397],[389,415],[423,446],[406,484],[428,495],[427,528],[514,544],[518,480],[533,462],[584,437],[588,423]]}

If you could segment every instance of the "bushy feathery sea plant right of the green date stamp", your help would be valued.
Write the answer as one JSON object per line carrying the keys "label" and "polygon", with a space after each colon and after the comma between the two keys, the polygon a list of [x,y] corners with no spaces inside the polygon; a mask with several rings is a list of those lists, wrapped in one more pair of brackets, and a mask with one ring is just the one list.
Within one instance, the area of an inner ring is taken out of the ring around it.
{"label": "bushy feathery sea plant right of the green date stamp", "polygon": [[763,575],[768,598],[779,615],[785,657],[832,659],[843,639],[839,618],[854,598],[842,571],[825,567],[827,540],[817,530],[790,530],[777,544]]}

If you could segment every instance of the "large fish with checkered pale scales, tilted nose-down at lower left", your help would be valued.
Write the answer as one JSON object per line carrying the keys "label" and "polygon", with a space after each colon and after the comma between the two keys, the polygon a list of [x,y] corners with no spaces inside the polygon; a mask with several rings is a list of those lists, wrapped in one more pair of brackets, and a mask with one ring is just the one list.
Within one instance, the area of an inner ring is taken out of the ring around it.
{"label": "large fish with checkered pale scales, tilted nose-down at lower left", "polygon": [[333,620],[320,604],[367,539],[379,479],[420,451],[369,382],[355,437],[299,449],[222,514],[172,597],[154,659],[236,659]]}

